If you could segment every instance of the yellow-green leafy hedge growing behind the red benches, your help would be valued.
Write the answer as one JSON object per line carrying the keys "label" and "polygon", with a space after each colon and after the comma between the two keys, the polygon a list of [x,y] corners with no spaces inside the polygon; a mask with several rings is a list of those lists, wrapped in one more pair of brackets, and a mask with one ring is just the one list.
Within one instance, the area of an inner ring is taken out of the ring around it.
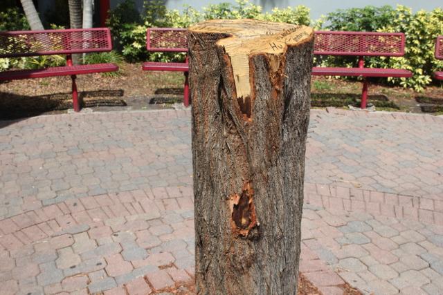
{"label": "yellow-green leafy hedge growing behind the red benches", "polygon": [[[203,10],[187,6],[183,11],[168,10],[162,0],[145,1],[141,15],[134,0],[125,0],[111,10],[107,26],[111,28],[115,48],[127,61],[177,61],[183,60],[181,53],[147,53],[145,50],[146,29],[150,27],[187,28],[193,23],[207,19],[260,19],[314,26],[317,30],[353,30],[404,32],[406,34],[406,53],[404,57],[368,57],[367,66],[374,68],[405,68],[412,70],[412,78],[381,79],[393,85],[422,89],[435,80],[431,79],[435,70],[443,68],[443,61],[434,57],[435,39],[443,35],[443,10],[437,8],[431,12],[419,10],[412,12],[406,6],[366,6],[330,12],[317,21],[311,21],[309,8],[296,6],[274,8],[271,12],[262,12],[249,0],[237,0],[236,4],[219,3],[209,5]],[[26,18],[17,8],[7,8],[0,12],[0,30],[28,29]],[[31,60],[32,61],[32,60]],[[10,66],[29,67],[52,60],[29,62],[27,59],[0,59],[0,70]],[[322,66],[355,66],[355,59],[339,57],[316,58]],[[438,83],[438,82],[435,82]]]}

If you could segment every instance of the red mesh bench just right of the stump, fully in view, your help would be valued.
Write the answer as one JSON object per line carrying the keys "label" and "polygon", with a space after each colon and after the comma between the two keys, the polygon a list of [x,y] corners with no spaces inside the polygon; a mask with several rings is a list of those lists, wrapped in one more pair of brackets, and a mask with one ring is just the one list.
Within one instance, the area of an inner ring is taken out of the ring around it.
{"label": "red mesh bench just right of the stump, fully in view", "polygon": [[358,56],[358,68],[314,67],[316,76],[363,77],[361,108],[366,107],[368,82],[366,77],[412,77],[409,70],[395,68],[364,68],[363,57],[404,56],[405,37],[403,33],[386,32],[315,32],[314,55]]}

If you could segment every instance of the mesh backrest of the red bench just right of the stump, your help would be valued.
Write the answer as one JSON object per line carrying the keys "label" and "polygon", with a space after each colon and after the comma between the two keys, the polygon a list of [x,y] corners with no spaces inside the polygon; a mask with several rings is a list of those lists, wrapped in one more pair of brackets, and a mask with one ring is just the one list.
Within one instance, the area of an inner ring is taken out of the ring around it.
{"label": "mesh backrest of the red bench just right of the stump", "polygon": [[356,55],[401,57],[404,33],[317,31],[315,55]]}

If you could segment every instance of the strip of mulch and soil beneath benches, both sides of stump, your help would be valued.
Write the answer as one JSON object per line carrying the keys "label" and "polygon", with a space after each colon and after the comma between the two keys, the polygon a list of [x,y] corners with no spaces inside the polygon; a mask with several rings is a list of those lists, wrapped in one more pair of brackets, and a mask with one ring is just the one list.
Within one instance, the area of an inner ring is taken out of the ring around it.
{"label": "strip of mulch and soil beneath benches, both sides of stump", "polygon": [[[100,74],[79,75],[77,79],[83,107],[93,111],[121,111],[172,108],[183,99],[183,73],[145,72],[141,64],[120,65],[117,77]],[[377,110],[413,113],[443,112],[442,84],[423,93],[377,85],[369,86],[368,105]],[[361,82],[329,77],[312,77],[314,107],[359,106]],[[41,114],[66,113],[72,108],[70,77],[24,79],[0,82],[0,120]]]}

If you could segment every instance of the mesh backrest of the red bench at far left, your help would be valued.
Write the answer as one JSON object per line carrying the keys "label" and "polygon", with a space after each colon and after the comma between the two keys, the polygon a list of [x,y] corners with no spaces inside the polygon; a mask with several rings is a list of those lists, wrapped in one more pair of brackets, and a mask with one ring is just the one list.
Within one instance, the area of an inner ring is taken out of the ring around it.
{"label": "mesh backrest of the red bench at far left", "polygon": [[71,55],[111,49],[109,28],[0,32],[0,57]]}

